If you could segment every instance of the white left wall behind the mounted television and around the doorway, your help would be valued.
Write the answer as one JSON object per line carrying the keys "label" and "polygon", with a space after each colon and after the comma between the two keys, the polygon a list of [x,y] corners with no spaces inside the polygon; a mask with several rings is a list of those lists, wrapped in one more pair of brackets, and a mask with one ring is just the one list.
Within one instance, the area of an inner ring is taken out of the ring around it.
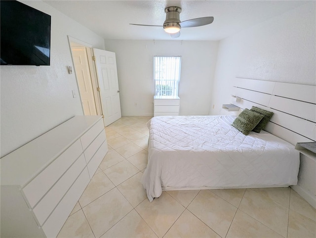
{"label": "white left wall behind the mounted television and around the doorway", "polygon": [[82,115],[68,36],[104,49],[104,40],[42,1],[23,1],[51,15],[50,66],[1,66],[1,157],[75,115]]}

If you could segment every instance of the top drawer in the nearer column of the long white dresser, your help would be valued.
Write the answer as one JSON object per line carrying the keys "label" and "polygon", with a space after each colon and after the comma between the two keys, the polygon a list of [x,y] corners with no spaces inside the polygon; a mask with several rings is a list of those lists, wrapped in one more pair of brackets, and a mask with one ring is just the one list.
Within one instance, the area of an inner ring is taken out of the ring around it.
{"label": "top drawer in the nearer column of the long white dresser", "polygon": [[82,154],[80,140],[77,140],[63,154],[49,164],[28,185],[23,193],[28,199],[31,208],[42,198],[55,182],[65,173],[72,163]]}

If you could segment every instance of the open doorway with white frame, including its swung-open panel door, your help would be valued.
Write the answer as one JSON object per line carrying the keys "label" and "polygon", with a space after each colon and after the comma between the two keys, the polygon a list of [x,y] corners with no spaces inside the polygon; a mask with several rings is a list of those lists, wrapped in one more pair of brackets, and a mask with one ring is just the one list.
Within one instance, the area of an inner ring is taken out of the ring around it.
{"label": "open doorway with white frame, including its swung-open panel door", "polygon": [[101,115],[108,126],[121,118],[116,54],[68,38],[84,115]]}

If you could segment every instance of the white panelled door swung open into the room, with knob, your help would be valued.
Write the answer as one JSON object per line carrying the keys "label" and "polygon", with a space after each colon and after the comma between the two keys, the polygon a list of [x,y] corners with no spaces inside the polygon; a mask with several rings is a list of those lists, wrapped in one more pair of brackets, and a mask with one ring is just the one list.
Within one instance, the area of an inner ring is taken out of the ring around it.
{"label": "white panelled door swung open into the room, with knob", "polygon": [[99,81],[104,125],[121,118],[117,60],[114,52],[93,49]]}

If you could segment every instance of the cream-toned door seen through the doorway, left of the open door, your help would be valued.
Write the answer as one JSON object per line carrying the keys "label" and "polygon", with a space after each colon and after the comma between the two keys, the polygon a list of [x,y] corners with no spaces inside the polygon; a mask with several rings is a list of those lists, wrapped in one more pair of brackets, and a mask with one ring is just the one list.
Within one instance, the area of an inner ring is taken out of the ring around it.
{"label": "cream-toned door seen through the doorway, left of the open door", "polygon": [[97,115],[85,47],[71,47],[84,115]]}

